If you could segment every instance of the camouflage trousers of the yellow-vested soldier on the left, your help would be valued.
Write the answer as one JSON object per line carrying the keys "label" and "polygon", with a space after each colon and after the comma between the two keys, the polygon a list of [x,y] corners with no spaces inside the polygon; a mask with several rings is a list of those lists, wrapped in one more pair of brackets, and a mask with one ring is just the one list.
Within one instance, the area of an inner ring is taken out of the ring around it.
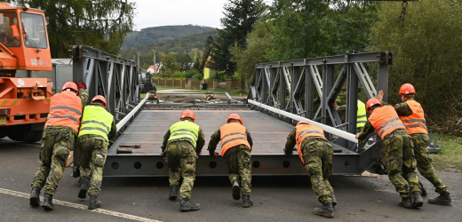
{"label": "camouflage trousers of the yellow-vested soldier on the left", "polygon": [[80,183],[90,182],[88,194],[99,196],[103,181],[103,168],[108,156],[108,141],[97,135],[84,135],[77,139],[79,148]]}

